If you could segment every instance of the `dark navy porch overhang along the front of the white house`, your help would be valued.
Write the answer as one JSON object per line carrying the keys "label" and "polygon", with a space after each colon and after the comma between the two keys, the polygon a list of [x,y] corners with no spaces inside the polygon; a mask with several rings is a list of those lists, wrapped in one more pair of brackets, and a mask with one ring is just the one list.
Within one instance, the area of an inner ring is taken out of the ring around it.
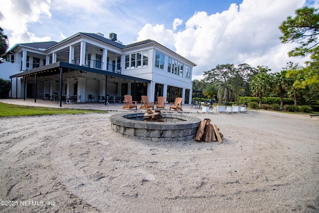
{"label": "dark navy porch overhang along the front of the white house", "polygon": [[63,73],[65,72],[71,72],[71,71],[82,71],[82,72],[91,72],[91,73],[96,73],[96,74],[104,74],[108,76],[114,76],[114,77],[119,77],[119,78],[126,78],[138,82],[146,82],[146,83],[151,83],[151,80],[143,79],[143,78],[138,78],[134,76],[129,76],[129,75],[123,75],[120,73],[115,73],[115,72],[110,72],[110,71],[104,71],[100,69],[94,69],[94,68],[89,68],[85,66],[80,66],[80,65],[75,65],[75,64],[70,64],[66,62],[55,62],[52,64],[48,64],[45,66],[37,67],[31,70],[23,71],[14,75],[11,75],[9,78],[18,78],[18,77],[26,77],[26,76],[47,76],[47,75],[54,75],[54,74],[59,74],[60,73],[60,68],[63,68]]}

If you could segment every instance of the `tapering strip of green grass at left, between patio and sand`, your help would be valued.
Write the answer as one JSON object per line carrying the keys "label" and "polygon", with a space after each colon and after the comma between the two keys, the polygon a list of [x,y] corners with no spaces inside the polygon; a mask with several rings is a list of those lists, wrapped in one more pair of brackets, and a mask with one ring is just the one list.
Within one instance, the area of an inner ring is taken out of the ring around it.
{"label": "tapering strip of green grass at left, between patio and sand", "polygon": [[53,114],[79,114],[79,113],[107,113],[104,110],[62,109],[49,107],[31,107],[0,103],[0,117],[31,116]]}

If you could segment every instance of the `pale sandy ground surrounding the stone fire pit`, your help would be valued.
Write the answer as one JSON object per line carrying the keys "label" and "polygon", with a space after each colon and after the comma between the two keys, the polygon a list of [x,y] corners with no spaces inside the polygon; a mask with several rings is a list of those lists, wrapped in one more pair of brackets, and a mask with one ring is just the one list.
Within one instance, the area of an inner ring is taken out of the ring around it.
{"label": "pale sandy ground surrounding the stone fire pit", "polygon": [[319,212],[319,116],[188,114],[219,144],[126,138],[114,113],[0,118],[0,212]]}

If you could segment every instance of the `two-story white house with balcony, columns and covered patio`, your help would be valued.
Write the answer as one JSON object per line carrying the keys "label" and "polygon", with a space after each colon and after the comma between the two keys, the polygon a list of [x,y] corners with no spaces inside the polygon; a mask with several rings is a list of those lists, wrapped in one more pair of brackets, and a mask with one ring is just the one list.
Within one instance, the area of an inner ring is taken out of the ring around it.
{"label": "two-story white house with balcony, columns and covered patio", "polygon": [[115,33],[106,38],[79,32],[60,42],[15,44],[5,56],[1,74],[1,67],[16,73],[9,76],[11,98],[57,93],[80,95],[85,102],[89,95],[98,101],[130,94],[136,101],[147,95],[149,101],[164,96],[166,102],[191,102],[196,64],[150,39],[123,45]]}

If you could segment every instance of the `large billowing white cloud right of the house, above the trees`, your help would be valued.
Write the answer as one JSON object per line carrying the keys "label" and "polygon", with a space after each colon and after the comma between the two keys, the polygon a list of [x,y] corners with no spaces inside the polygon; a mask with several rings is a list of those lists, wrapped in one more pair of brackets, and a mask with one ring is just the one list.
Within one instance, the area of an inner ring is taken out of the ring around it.
{"label": "large billowing white cloud right of the house, above the trees", "polygon": [[[318,0],[317,0],[318,1]],[[202,78],[204,71],[218,64],[248,63],[265,65],[280,71],[289,61],[303,64],[304,58],[289,58],[293,44],[282,44],[279,25],[306,0],[243,0],[239,5],[231,4],[221,13],[195,12],[185,22],[182,31],[171,32],[163,25],[150,24],[140,31],[140,38],[160,40],[163,45],[172,45],[178,54],[193,61],[193,78]],[[174,21],[175,23],[175,21]],[[174,28],[173,23],[173,29]],[[161,27],[158,27],[161,26]],[[170,32],[169,38],[164,35]],[[143,36],[142,36],[143,35]]]}

